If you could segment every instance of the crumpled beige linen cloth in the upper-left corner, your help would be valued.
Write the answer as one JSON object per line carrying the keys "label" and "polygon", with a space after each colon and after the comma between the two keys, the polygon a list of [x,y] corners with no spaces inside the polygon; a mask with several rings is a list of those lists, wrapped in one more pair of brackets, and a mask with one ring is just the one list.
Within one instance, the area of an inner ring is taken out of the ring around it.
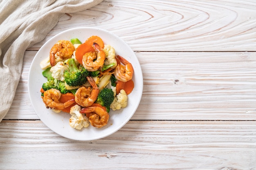
{"label": "crumpled beige linen cloth in the upper-left corner", "polygon": [[0,0],[0,121],[7,114],[20,80],[24,52],[42,41],[65,13],[102,0]]}

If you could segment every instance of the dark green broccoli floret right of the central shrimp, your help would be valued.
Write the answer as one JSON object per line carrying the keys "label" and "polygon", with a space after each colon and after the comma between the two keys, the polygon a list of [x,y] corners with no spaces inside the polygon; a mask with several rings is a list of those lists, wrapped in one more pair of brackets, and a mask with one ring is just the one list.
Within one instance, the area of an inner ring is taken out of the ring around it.
{"label": "dark green broccoli floret right of the central shrimp", "polygon": [[114,100],[114,92],[112,89],[104,88],[99,92],[98,98],[95,101],[96,103],[99,103],[101,106],[106,107],[107,111],[110,111],[110,105]]}

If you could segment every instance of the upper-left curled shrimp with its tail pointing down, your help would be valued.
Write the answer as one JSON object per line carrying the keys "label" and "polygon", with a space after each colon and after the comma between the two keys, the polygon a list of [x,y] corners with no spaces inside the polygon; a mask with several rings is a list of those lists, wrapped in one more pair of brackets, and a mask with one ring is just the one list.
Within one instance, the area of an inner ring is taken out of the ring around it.
{"label": "upper-left curled shrimp with its tail pointing down", "polygon": [[55,54],[61,59],[69,59],[72,57],[75,48],[70,41],[59,40],[56,44],[52,46],[50,50],[50,63],[52,67],[55,65]]}

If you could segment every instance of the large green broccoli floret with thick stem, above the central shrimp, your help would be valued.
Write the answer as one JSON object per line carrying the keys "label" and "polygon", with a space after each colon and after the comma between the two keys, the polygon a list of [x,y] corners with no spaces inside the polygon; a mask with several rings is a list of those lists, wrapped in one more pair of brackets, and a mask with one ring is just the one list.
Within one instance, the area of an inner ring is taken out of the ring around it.
{"label": "large green broccoli floret with thick stem, above the central shrimp", "polygon": [[86,70],[82,65],[77,68],[74,59],[67,59],[65,61],[69,65],[69,70],[65,70],[64,77],[67,85],[79,86],[83,85],[87,81],[87,76],[90,76],[90,72]]}

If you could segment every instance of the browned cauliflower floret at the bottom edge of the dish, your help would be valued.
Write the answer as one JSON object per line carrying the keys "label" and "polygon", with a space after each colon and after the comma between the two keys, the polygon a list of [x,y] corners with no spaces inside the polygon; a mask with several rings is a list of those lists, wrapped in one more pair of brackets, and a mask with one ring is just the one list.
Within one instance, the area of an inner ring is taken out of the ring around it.
{"label": "browned cauliflower floret at the bottom edge of the dish", "polygon": [[78,130],[89,126],[89,119],[85,115],[82,115],[80,110],[81,106],[79,105],[74,105],[70,108],[70,126]]}

